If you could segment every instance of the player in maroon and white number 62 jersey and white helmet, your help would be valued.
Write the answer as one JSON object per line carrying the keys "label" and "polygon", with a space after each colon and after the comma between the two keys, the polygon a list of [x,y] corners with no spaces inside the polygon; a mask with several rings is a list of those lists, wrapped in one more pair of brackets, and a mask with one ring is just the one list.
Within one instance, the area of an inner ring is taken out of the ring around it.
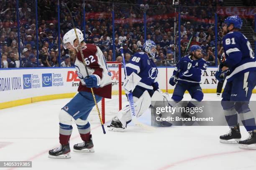
{"label": "player in maroon and white number 62 jersey and white helmet", "polygon": [[[74,29],[72,29],[64,35],[63,43],[65,49],[68,48],[77,55],[75,67],[80,84],[77,95],[61,108],[59,113],[60,146],[49,150],[49,158],[70,158],[69,138],[73,129],[72,119],[77,124],[77,129],[82,139],[82,143],[74,145],[74,152],[94,152],[92,135],[90,134],[90,123],[87,120],[92,107],[95,106],[90,88],[93,88],[97,102],[102,97],[111,98],[111,74],[102,51],[96,45],[86,44],[82,32],[79,29],[76,29],[76,31],[79,40],[77,40]],[[89,75],[85,71],[79,43]]]}

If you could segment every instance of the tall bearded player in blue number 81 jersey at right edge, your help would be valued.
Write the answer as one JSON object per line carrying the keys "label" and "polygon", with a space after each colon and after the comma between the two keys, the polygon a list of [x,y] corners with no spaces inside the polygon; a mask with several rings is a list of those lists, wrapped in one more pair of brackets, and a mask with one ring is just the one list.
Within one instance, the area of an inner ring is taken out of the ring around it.
{"label": "tall bearded player in blue number 81 jersey at right edge", "polygon": [[[255,117],[248,104],[252,90],[256,85],[256,59],[251,44],[241,33],[243,22],[237,15],[225,19],[223,27],[223,47],[226,60],[218,67],[215,77],[227,83],[222,93],[221,105],[230,131],[220,136],[221,143],[239,143],[240,148],[256,149]],[[238,114],[249,133],[246,140],[241,140]]]}

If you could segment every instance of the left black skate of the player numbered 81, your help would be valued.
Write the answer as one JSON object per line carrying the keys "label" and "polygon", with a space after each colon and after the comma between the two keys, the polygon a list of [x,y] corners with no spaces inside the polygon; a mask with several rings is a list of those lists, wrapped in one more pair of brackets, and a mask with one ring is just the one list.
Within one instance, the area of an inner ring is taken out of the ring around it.
{"label": "left black skate of the player numbered 81", "polygon": [[230,128],[228,133],[220,136],[220,143],[233,143],[236,144],[241,140],[241,133],[239,123],[237,126]]}

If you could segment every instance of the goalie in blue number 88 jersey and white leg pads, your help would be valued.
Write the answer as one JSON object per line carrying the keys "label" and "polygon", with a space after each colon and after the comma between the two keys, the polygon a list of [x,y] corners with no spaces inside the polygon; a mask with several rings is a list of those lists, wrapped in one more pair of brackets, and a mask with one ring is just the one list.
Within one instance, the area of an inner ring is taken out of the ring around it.
{"label": "goalie in blue number 88 jersey and white leg pads", "polygon": [[[143,52],[135,53],[126,65],[128,78],[125,80],[124,88],[126,93],[133,94],[136,117],[141,116],[148,109],[151,100],[159,101],[169,97],[159,89],[158,69],[154,63],[155,53],[155,42],[147,40],[143,45]],[[109,127],[113,131],[123,131],[129,122],[131,122],[131,112],[130,107],[126,106],[116,114]]]}

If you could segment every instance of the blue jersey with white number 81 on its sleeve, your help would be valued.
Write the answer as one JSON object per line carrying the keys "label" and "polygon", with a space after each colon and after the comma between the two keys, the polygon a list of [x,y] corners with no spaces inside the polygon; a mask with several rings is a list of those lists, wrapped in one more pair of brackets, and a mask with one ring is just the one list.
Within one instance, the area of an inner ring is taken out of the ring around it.
{"label": "blue jersey with white number 81 on its sleeve", "polygon": [[226,56],[224,65],[230,71],[230,75],[226,78],[228,82],[238,73],[256,70],[256,59],[251,44],[241,32],[229,32],[225,35],[223,48]]}

